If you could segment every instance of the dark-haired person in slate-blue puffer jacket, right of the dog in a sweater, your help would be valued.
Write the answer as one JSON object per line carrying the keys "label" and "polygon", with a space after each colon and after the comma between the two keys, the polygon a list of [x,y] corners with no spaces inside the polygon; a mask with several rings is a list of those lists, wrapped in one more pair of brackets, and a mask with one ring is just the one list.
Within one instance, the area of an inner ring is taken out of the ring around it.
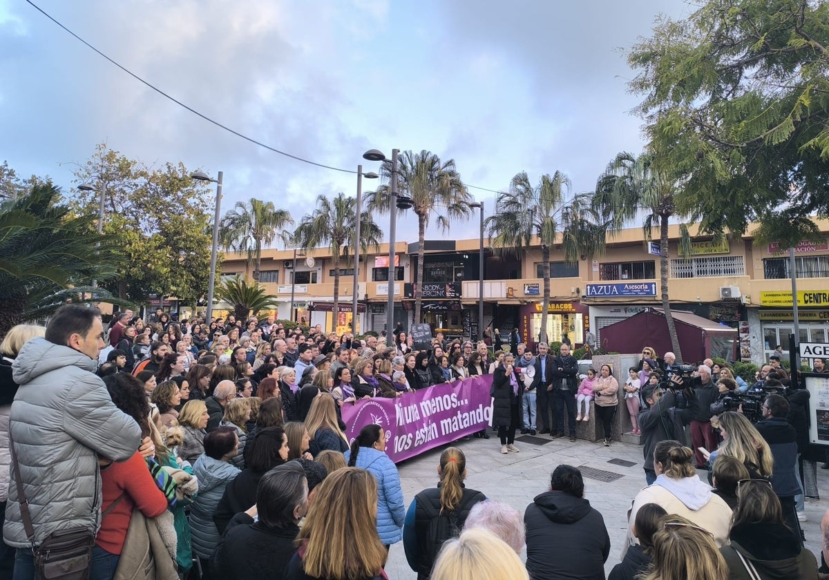
{"label": "dark-haired person in slate-blue puffer jacket, right of the dog in a sweater", "polygon": [[190,532],[193,552],[201,560],[202,569],[206,569],[207,561],[221,538],[213,522],[213,513],[225,494],[225,486],[241,473],[230,463],[238,447],[236,428],[218,427],[207,433],[205,452],[193,465],[193,473],[199,481],[199,495],[190,506]]}

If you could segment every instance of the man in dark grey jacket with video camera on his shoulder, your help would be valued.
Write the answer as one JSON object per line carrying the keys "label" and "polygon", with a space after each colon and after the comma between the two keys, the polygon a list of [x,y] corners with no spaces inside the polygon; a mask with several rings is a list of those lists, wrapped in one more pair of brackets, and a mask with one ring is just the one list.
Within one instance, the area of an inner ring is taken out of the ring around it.
{"label": "man in dark grey jacket with video camera on his shoulder", "polygon": [[653,450],[657,443],[676,439],[684,445],[685,433],[679,413],[676,413],[676,393],[670,388],[662,389],[660,384],[646,384],[642,388],[642,400],[647,405],[639,411],[637,420],[642,431],[642,452],[645,456],[643,467],[645,481],[650,486],[657,480],[657,472],[653,469]]}

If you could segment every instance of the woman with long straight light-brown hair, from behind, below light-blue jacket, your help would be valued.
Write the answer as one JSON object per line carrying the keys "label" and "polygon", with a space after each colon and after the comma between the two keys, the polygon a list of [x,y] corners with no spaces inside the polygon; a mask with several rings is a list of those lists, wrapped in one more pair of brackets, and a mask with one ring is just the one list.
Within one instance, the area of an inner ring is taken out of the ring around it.
{"label": "woman with long straight light-brown hair, from behind, below light-blue jacket", "polygon": [[316,488],[285,580],[381,580],[388,552],[376,530],[377,482],[343,467]]}

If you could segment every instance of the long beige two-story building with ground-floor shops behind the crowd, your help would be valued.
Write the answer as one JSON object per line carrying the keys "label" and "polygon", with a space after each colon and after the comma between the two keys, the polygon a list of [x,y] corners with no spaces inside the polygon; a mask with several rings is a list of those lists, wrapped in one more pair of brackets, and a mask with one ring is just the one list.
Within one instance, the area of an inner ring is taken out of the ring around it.
{"label": "long beige two-story building with ground-floor shops behind the crowd", "polygon": [[[800,340],[829,341],[829,221],[817,220],[826,239],[803,242],[795,249]],[[751,229],[749,228],[749,231]],[[691,234],[696,234],[691,228]],[[487,240],[485,240],[487,242]],[[695,237],[692,253],[678,251],[679,228],[671,225],[668,242],[668,291],[672,310],[693,312],[728,326],[739,327],[744,360],[762,362],[775,346],[788,344],[793,331],[788,250],[777,244],[755,244],[750,236],[714,244]],[[478,336],[478,239],[424,242],[422,318],[447,336]],[[483,249],[483,325],[502,331],[513,327],[533,344],[541,331],[544,280],[538,246],[507,256]],[[395,311],[393,324],[408,327],[414,320],[414,283],[418,243],[395,244]],[[584,342],[591,330],[601,344],[604,326],[661,305],[658,242],[646,242],[641,228],[623,230],[608,238],[602,256],[581,256],[567,263],[555,250],[550,263],[550,304],[547,336],[560,341],[569,336]],[[244,273],[245,257],[227,254],[222,275]],[[279,297],[278,317],[322,324],[330,329],[333,317],[334,272],[327,250],[307,253],[265,249],[259,281]],[[340,265],[337,331],[351,326],[353,263]],[[361,256],[358,273],[357,332],[385,328],[390,289],[388,245]],[[291,297],[293,296],[293,303]],[[293,309],[292,309],[293,304]]]}

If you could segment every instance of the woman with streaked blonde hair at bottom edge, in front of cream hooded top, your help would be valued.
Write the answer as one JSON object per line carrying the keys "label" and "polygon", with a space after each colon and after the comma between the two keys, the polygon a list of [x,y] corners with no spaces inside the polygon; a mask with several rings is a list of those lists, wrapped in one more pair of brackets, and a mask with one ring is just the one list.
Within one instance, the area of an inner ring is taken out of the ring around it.
{"label": "woman with streaked blonde hair at bottom edge, in front of cream hooded top", "polygon": [[723,580],[730,578],[725,559],[707,529],[683,518],[665,515],[653,534],[650,571],[642,580]]}

